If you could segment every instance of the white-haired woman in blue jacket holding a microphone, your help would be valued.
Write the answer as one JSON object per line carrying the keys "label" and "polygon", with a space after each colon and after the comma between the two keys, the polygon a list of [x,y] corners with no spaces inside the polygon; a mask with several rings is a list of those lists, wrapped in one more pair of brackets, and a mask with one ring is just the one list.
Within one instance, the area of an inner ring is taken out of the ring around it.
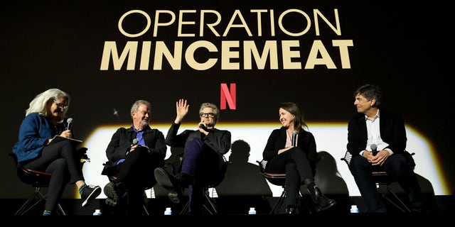
{"label": "white-haired woman in blue jacket holding a microphone", "polygon": [[18,167],[52,173],[43,216],[53,214],[68,182],[79,190],[82,206],[87,206],[101,194],[100,186],[85,184],[81,154],[75,143],[70,140],[51,143],[55,135],[73,138],[72,128],[63,121],[69,105],[70,95],[60,89],[38,94],[26,110],[19,128],[19,140],[13,148]]}

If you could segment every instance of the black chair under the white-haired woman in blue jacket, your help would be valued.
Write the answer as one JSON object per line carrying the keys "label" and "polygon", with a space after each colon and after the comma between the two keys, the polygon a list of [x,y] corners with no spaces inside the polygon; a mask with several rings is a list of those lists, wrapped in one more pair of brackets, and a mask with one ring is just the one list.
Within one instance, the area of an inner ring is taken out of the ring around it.
{"label": "black chair under the white-haired woman in blue jacket", "polygon": [[[52,177],[52,173],[24,168],[18,164],[16,154],[9,153],[9,155],[13,157],[14,165],[16,166],[16,174],[19,179],[21,179],[21,182],[29,184],[35,188],[35,192],[33,192],[33,194],[28,197],[27,201],[22,204],[21,208],[19,208],[14,214],[17,216],[23,216],[35,209],[38,204],[41,204],[45,201],[47,198],[47,193],[41,192],[41,189],[43,187],[49,187],[50,177]],[[57,214],[64,216],[66,215],[60,203],[57,204],[56,211]]]}

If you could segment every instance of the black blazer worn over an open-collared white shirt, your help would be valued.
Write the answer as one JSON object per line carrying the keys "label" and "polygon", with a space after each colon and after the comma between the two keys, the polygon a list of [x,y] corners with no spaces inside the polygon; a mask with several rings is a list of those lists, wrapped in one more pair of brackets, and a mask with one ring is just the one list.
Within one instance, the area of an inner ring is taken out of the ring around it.
{"label": "black blazer worn over an open-collared white shirt", "polygon": [[[391,111],[379,110],[380,136],[389,145],[394,154],[405,153],[406,129],[403,118]],[[359,155],[367,146],[368,133],[365,114],[357,114],[348,123],[348,151],[352,155]]]}

